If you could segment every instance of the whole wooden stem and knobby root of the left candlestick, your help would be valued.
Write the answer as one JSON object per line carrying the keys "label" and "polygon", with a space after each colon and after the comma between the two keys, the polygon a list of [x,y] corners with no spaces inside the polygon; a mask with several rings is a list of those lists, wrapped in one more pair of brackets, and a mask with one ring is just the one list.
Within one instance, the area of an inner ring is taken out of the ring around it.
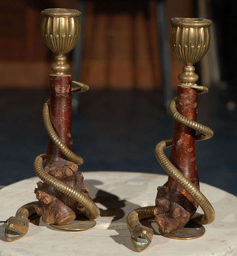
{"label": "whole wooden stem and knobby root of the left candlestick", "polygon": [[[72,149],[71,132],[71,76],[50,75],[50,120],[60,140]],[[83,175],[78,165],[68,161],[49,139],[45,171],[53,177],[76,188],[89,196],[89,190],[83,184]],[[43,182],[35,188],[35,206],[37,214],[48,224],[67,224],[76,214],[85,209],[67,195],[55,190]]]}

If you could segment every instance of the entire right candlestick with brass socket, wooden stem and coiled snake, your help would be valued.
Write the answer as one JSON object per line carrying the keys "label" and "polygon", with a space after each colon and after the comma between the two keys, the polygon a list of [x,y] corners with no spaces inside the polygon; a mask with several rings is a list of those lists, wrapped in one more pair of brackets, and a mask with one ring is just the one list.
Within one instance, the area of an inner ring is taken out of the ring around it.
{"label": "entire right candlestick with brass socket, wooden stem and coiled snake", "polygon": [[[170,102],[169,110],[176,120],[172,138],[162,140],[155,147],[155,156],[169,174],[168,181],[157,188],[155,206],[138,208],[127,217],[131,240],[137,251],[151,243],[153,230],[143,226],[144,218],[154,218],[160,233],[174,239],[194,239],[204,234],[202,224],[212,223],[215,211],[199,190],[195,141],[213,136],[213,131],[196,122],[197,95],[208,89],[196,85],[198,75],[193,64],[207,52],[210,45],[210,25],[207,19],[172,18],[171,48],[184,62],[178,78],[178,95]],[[196,134],[196,131],[199,133]],[[172,146],[170,161],[164,149]],[[198,205],[203,214],[195,213]],[[185,226],[192,220],[196,226]],[[190,232],[191,230],[191,232]]]}

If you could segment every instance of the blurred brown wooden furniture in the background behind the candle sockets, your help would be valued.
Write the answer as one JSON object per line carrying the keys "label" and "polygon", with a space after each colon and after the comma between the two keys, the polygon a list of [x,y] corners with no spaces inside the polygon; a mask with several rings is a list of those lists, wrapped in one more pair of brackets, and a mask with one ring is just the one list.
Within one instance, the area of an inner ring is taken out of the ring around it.
{"label": "blurred brown wooden furniture in the background behind the candle sockets", "polygon": [[[87,2],[80,79],[91,89],[162,88],[155,1]],[[192,16],[193,1],[181,2],[165,1],[167,24],[174,16]],[[0,87],[48,87],[49,64],[54,56],[45,48],[38,29],[40,11],[50,7],[76,9],[78,1],[12,0],[1,5],[1,24],[7,25],[1,28],[0,43],[4,50],[0,60]],[[181,64],[170,56],[171,84],[175,87]],[[71,55],[67,59],[71,65]]]}

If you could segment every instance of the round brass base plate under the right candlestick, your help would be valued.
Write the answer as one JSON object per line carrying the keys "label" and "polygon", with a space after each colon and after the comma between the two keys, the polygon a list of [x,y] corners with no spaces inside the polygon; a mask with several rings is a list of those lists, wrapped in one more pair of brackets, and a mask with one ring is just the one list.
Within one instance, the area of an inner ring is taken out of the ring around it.
{"label": "round brass base plate under the right candlestick", "polygon": [[189,239],[195,239],[204,235],[205,228],[202,225],[188,222],[183,228],[180,228],[168,234],[162,233],[160,230],[159,232],[162,236],[165,236],[168,238],[189,240]]}

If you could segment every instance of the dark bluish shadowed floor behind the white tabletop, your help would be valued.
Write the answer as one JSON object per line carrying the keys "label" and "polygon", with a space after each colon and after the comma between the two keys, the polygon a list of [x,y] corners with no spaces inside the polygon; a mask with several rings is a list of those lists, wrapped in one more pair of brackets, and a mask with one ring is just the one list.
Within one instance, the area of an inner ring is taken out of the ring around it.
{"label": "dark bluish shadowed floor behind the white tabletop", "polygon": [[[33,161],[47,149],[41,110],[48,96],[48,90],[0,90],[1,185],[35,176]],[[198,142],[196,155],[201,182],[237,195],[237,119],[236,110],[226,108],[228,97],[215,87],[199,96],[198,121],[214,137]],[[84,158],[79,169],[85,176],[100,170],[165,174],[154,147],[173,128],[160,91],[88,91],[73,111],[73,151]]]}

